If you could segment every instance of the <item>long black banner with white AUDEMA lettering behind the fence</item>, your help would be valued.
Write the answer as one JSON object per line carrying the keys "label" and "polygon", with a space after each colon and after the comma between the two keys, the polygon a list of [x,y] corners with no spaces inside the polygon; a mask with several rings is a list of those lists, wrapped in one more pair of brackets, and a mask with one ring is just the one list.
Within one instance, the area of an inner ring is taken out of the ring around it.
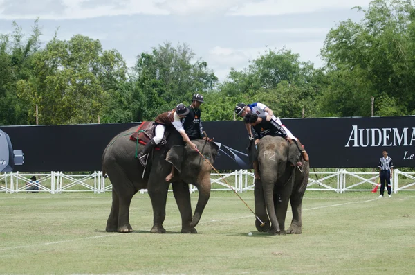
{"label": "long black banner with white AUDEMA lettering behind the fence", "polygon": [[[313,168],[377,167],[382,150],[396,167],[415,167],[415,116],[382,118],[290,118],[282,123],[299,138]],[[93,171],[119,132],[139,125],[91,124],[3,126],[14,150],[23,150],[21,172]],[[248,134],[242,121],[205,121],[204,130],[220,145],[215,168],[250,168]],[[132,142],[132,141],[131,141]]]}

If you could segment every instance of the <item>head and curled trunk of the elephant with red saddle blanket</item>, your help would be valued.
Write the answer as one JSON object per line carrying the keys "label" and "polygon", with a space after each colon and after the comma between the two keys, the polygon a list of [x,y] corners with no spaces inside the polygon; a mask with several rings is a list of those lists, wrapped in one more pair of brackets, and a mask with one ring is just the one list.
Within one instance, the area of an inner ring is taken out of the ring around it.
{"label": "head and curled trunk of the elephant with red saddle blanket", "polygon": [[[166,161],[178,170],[178,180],[193,184],[199,190],[199,199],[190,227],[196,227],[210,197],[210,172],[219,147],[214,142],[194,140],[199,152],[189,146],[175,145],[167,152]],[[201,157],[201,154],[203,157]],[[210,163],[208,163],[209,161]]]}

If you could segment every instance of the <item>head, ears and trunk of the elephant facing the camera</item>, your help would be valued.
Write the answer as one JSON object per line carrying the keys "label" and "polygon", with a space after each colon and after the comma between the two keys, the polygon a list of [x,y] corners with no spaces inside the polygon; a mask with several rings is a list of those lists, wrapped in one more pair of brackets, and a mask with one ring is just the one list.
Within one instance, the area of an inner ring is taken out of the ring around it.
{"label": "head, ears and trunk of the elephant facing the camera", "polygon": [[270,233],[279,233],[281,230],[275,213],[274,195],[277,193],[275,189],[284,188],[284,192],[291,193],[295,165],[299,161],[300,152],[295,141],[290,144],[279,136],[264,136],[257,148],[266,211],[273,224]]}

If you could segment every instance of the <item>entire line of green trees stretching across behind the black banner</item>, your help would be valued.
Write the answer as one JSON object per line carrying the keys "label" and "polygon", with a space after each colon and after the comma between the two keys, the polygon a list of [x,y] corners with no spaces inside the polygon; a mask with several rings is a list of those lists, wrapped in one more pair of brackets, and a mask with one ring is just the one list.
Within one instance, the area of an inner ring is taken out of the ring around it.
{"label": "entire line of green trees stretching across behind the black banner", "polygon": [[[234,105],[261,101],[281,118],[415,115],[415,9],[412,0],[374,0],[359,22],[340,21],[320,51],[324,66],[287,48],[268,49],[218,82],[187,44],[140,53],[128,69],[98,39],[55,36],[41,44],[13,22],[0,35],[0,125],[148,121],[192,94],[205,96],[203,120],[232,120]],[[36,106],[38,114],[36,114]]]}

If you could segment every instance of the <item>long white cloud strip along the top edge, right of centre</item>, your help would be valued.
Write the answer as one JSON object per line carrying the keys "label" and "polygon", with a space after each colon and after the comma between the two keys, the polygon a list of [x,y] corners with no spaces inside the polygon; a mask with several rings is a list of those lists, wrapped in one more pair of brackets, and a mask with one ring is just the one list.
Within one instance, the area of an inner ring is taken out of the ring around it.
{"label": "long white cloud strip along the top edge, right of centre", "polygon": [[320,10],[353,8],[353,6],[368,6],[371,0],[264,0],[249,1],[234,7],[228,15],[286,15],[310,13]]}

